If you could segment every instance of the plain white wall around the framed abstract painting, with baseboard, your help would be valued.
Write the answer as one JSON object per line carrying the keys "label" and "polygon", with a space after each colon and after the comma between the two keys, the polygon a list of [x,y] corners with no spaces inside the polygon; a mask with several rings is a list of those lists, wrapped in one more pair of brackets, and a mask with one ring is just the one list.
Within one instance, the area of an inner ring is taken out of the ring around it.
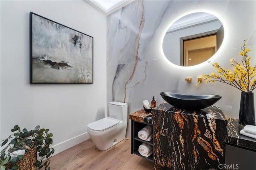
{"label": "plain white wall around the framed abstract painting, with baseboard", "polygon": [[[106,16],[84,1],[1,1],[1,141],[48,128],[55,154],[89,138],[106,110]],[[29,84],[29,12],[94,37],[93,84]]]}

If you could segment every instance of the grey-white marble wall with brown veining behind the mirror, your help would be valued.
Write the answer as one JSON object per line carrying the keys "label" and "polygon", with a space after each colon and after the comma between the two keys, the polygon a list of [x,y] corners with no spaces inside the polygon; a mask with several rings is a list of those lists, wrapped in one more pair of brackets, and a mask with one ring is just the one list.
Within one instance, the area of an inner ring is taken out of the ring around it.
{"label": "grey-white marble wall with brown veining behind the mirror", "polygon": [[[164,30],[176,18],[193,10],[210,10],[226,23],[226,40],[210,61],[230,68],[230,60],[238,59],[244,39],[256,56],[256,2],[205,0],[135,0],[107,16],[107,102],[128,103],[128,114],[142,109],[143,100],[164,102],[160,92],[181,94],[218,94],[215,104],[226,117],[238,118],[240,91],[222,83],[196,87],[196,78],[214,69],[208,63],[180,67],[166,61],[161,41]],[[170,44],[171,45],[171,44]],[[192,83],[184,78],[192,77]],[[130,121],[128,134],[130,136]]]}

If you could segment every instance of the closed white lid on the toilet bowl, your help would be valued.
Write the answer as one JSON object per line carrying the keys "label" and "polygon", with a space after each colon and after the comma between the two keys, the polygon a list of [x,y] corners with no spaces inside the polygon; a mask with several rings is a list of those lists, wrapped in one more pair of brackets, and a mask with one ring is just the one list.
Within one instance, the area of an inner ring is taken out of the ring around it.
{"label": "closed white lid on the toilet bowl", "polygon": [[118,119],[113,119],[110,117],[105,117],[103,119],[94,121],[92,123],[89,123],[87,125],[88,128],[94,130],[94,131],[104,131],[105,129],[108,129],[116,124],[119,123]]}

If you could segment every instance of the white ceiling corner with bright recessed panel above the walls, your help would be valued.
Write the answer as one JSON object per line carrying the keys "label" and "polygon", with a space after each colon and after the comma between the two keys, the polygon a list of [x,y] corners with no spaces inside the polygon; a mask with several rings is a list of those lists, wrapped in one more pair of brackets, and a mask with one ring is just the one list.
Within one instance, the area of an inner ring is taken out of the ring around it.
{"label": "white ceiling corner with bright recessed panel above the walls", "polygon": [[116,10],[126,6],[134,0],[84,0],[105,15],[109,15]]}

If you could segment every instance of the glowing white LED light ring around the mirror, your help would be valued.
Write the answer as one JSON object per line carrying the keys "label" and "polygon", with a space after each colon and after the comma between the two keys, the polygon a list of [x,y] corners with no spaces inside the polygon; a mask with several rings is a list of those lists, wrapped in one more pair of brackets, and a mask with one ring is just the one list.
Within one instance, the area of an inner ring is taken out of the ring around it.
{"label": "glowing white LED light ring around the mirror", "polygon": [[168,61],[168,63],[170,63],[172,66],[177,66],[178,68],[195,68],[195,66],[199,66],[199,65],[202,65],[202,64],[205,64],[207,62],[203,62],[203,63],[200,63],[200,64],[196,64],[196,65],[193,65],[193,66],[179,66],[179,65],[176,65],[174,63],[172,63],[171,61],[169,61],[166,57],[166,55],[164,54],[164,50],[163,50],[163,41],[164,41],[164,37],[166,35],[166,32],[168,31],[168,29],[170,28],[171,25],[173,25],[173,23],[175,23],[176,21],[178,21],[180,18],[184,17],[184,16],[187,16],[189,14],[193,14],[193,13],[198,13],[198,12],[203,12],[203,13],[209,13],[209,14],[212,14],[213,16],[216,16],[220,22],[222,23],[223,25],[223,28],[224,28],[224,37],[223,37],[223,41],[222,41],[222,44],[220,45],[220,48],[216,51],[216,53],[210,57],[210,59],[213,59],[213,57],[216,57],[218,56],[221,51],[223,51],[223,48],[226,44],[226,39],[227,39],[227,35],[228,35],[228,31],[227,31],[227,26],[226,26],[226,22],[223,20],[223,18],[221,16],[219,16],[218,14],[216,14],[215,12],[212,12],[212,11],[209,11],[209,10],[194,10],[194,11],[190,11],[190,12],[186,12],[185,14],[183,14],[182,16],[176,18],[176,20],[172,21],[168,27],[166,27],[163,35],[162,35],[162,39],[161,39],[161,43],[160,43],[160,49],[161,49],[161,53],[162,55],[164,56],[164,59],[166,59],[166,61]]}

